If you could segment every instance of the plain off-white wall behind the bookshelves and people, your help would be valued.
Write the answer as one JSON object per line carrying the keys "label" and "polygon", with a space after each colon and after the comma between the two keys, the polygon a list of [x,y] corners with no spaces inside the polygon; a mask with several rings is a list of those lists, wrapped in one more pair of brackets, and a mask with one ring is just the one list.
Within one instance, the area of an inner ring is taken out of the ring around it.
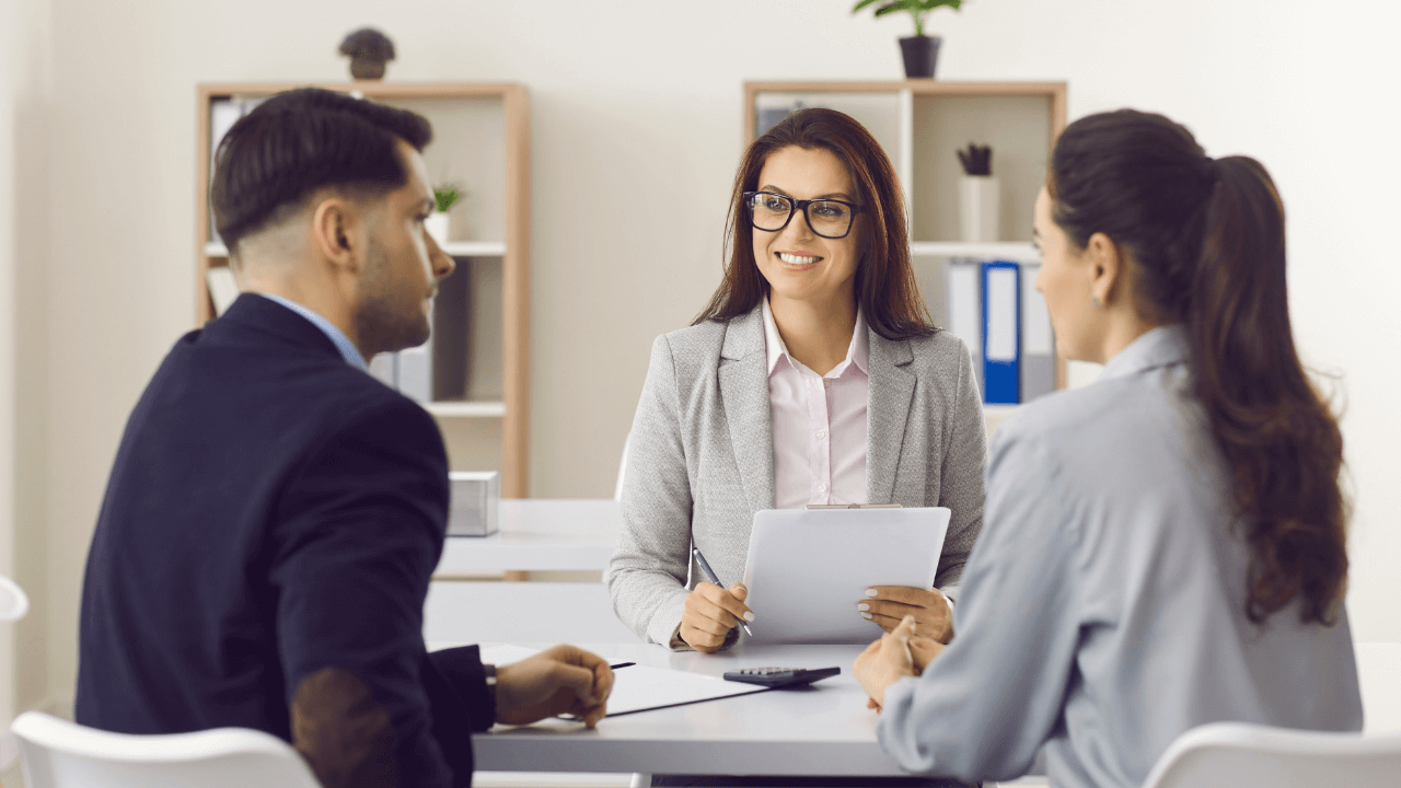
{"label": "plain off-white wall behind the bookshelves and people", "polygon": [[[17,320],[42,325],[15,387],[20,422],[39,425],[22,464],[39,467],[17,473],[42,496],[21,527],[46,540],[53,698],[71,697],[83,561],[126,414],[193,320],[196,83],[343,79],[339,38],[374,24],[399,50],[392,80],[531,88],[531,491],[607,496],[651,338],[719,280],[741,83],[895,79],[909,24],[852,18],[850,0],[11,1],[52,8],[52,84],[21,129],[43,130],[24,154],[46,164],[15,175],[10,199],[41,206],[43,229],[17,258]],[[930,20],[944,79],[1068,80],[1072,118],[1161,111],[1212,154],[1272,170],[1300,346],[1348,397],[1349,603],[1356,635],[1377,641],[1401,641],[1398,17],[1381,3],[974,0]],[[630,222],[637,205],[670,208]]]}

